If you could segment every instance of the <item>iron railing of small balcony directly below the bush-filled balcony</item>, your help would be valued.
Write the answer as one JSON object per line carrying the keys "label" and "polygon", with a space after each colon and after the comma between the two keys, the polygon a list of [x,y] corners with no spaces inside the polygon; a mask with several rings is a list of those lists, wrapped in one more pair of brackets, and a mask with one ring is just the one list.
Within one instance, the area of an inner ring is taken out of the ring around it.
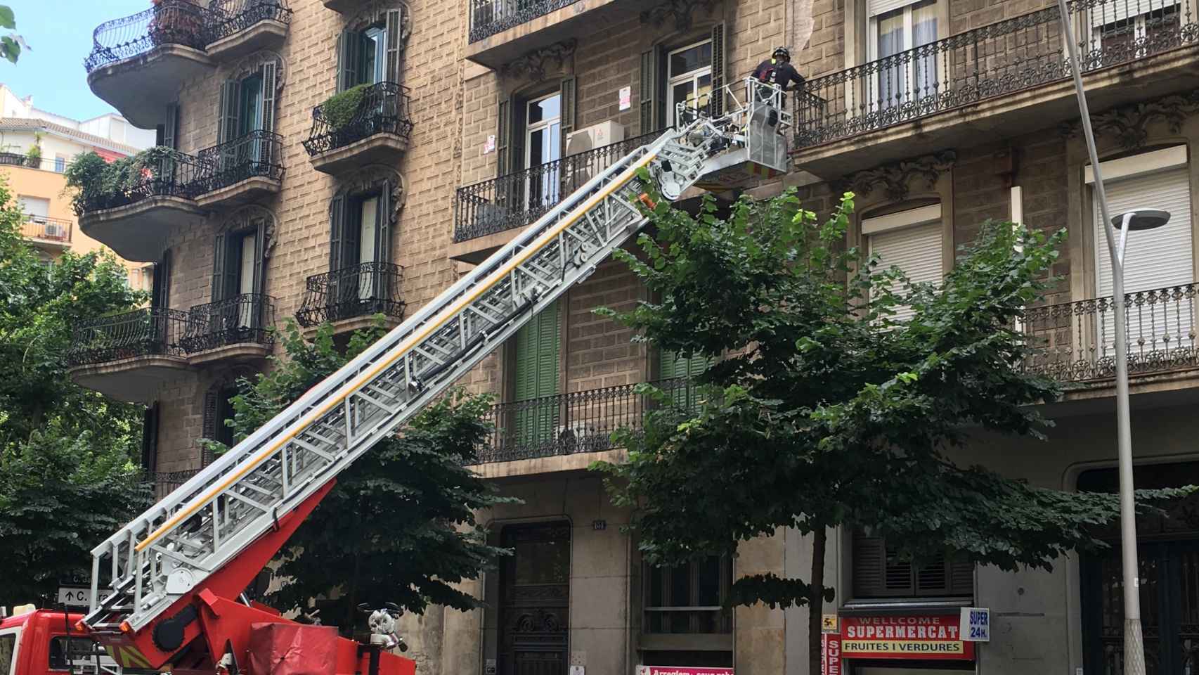
{"label": "iron railing of small balcony directly below the bush-filled balcony", "polygon": [[386,314],[404,318],[406,305],[399,300],[404,269],[384,263],[362,263],[308,277],[296,321],[309,327],[326,321]]}

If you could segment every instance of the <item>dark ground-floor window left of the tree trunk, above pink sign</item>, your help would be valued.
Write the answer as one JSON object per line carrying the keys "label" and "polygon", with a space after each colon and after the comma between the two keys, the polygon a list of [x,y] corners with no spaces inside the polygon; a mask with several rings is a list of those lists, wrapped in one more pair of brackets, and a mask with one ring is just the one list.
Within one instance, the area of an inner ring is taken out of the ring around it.
{"label": "dark ground-floor window left of the tree trunk, above pink sign", "polygon": [[646,633],[731,633],[724,608],[733,586],[733,561],[709,556],[679,567],[645,568]]}

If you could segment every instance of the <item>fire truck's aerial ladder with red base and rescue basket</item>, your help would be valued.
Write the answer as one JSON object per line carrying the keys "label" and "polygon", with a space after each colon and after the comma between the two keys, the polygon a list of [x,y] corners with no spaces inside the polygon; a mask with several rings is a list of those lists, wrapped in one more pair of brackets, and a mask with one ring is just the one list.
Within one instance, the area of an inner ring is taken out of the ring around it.
{"label": "fire truck's aerial ladder with red base and rescue basket", "polygon": [[[516,335],[645,225],[657,192],[727,188],[787,169],[782,92],[677,110],[664,132],[597,173],[411,318],[92,549],[79,622],[126,667],[247,670],[253,626],[288,623],[242,591],[337,475]],[[723,103],[733,104],[728,110]],[[731,177],[730,177],[731,176]],[[656,191],[646,181],[655,183]],[[374,641],[374,635],[372,635]],[[257,643],[255,643],[257,644]],[[338,639],[338,675],[410,675],[411,661]],[[132,662],[132,663],[128,663]],[[273,675],[252,673],[251,675]]]}

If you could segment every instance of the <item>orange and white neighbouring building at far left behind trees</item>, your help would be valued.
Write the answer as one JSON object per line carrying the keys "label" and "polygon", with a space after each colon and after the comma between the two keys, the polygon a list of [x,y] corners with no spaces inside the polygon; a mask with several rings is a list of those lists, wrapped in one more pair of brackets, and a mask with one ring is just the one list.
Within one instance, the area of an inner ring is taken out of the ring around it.
{"label": "orange and white neighbouring building at far left behind trees", "polygon": [[[153,133],[129,126],[120,115],[73,120],[34,107],[0,84],[0,167],[25,213],[22,233],[47,263],[62,251],[86,253],[101,242],[79,233],[62,171],[82,152],[114,159],[153,145]],[[36,147],[36,150],[34,150]],[[125,263],[133,288],[150,290],[152,266]]]}

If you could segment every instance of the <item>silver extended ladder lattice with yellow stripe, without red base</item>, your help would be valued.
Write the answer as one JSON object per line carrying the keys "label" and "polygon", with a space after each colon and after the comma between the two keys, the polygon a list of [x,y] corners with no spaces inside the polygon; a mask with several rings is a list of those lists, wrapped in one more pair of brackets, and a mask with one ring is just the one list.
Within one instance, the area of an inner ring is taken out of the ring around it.
{"label": "silver extended ladder lattice with yellow stripe, without red base", "polygon": [[[668,131],[613,163],[360,356],[92,550],[97,632],[139,631],[271,530],[743,146],[747,110]],[[112,591],[102,602],[101,592]]]}

